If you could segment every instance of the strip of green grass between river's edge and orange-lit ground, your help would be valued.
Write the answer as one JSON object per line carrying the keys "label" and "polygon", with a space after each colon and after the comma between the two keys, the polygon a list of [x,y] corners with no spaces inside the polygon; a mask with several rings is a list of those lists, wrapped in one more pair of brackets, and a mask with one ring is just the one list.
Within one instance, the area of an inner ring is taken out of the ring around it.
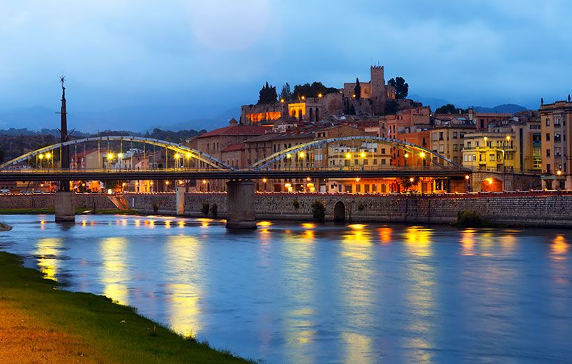
{"label": "strip of green grass between river's edge and orange-lit ground", "polygon": [[19,256],[6,252],[0,252],[0,300],[54,330],[81,335],[105,363],[255,363],[184,340],[109,298],[62,291],[57,282],[24,268]]}

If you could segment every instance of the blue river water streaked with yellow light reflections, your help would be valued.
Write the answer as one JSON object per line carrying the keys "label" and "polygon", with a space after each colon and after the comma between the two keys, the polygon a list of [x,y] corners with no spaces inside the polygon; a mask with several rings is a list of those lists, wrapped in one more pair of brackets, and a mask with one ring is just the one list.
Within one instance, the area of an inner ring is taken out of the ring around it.
{"label": "blue river water streaked with yellow light reflections", "polygon": [[572,231],[4,219],[68,289],[266,363],[572,362]]}

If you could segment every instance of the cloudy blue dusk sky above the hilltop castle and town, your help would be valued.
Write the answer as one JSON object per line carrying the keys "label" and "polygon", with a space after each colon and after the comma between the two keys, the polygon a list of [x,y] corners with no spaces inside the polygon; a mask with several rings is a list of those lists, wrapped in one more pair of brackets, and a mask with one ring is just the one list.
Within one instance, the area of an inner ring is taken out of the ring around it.
{"label": "cloudy blue dusk sky above the hilltop castle and town", "polygon": [[372,64],[458,105],[572,93],[568,0],[1,2],[0,128],[57,126],[59,75],[86,131],[211,129],[266,81],[342,87]]}

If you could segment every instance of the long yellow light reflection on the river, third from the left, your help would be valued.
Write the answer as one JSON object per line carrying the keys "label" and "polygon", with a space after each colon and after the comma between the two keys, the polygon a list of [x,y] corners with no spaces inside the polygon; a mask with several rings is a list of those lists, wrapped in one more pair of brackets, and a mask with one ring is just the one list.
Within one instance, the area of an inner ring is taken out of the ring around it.
{"label": "long yellow light reflection on the river, third from the left", "polygon": [[185,337],[196,337],[202,328],[201,246],[197,238],[187,235],[169,236],[165,245],[165,268],[171,277],[165,287],[169,326]]}

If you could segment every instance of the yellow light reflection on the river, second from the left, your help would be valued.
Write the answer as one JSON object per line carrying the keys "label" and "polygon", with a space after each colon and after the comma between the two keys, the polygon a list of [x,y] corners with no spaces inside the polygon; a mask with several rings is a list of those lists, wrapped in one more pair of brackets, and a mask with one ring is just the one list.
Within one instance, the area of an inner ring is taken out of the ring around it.
{"label": "yellow light reflection on the river, second from the left", "polygon": [[127,239],[122,237],[105,238],[100,241],[101,282],[103,296],[121,305],[129,305],[128,282],[130,282]]}

